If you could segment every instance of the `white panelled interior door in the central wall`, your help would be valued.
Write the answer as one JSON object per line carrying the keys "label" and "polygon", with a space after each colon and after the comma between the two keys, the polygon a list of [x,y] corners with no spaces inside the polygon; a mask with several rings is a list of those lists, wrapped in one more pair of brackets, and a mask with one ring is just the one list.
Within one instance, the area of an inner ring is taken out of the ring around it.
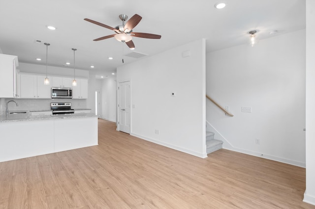
{"label": "white panelled interior door in the central wall", "polygon": [[119,131],[130,133],[130,81],[119,83]]}

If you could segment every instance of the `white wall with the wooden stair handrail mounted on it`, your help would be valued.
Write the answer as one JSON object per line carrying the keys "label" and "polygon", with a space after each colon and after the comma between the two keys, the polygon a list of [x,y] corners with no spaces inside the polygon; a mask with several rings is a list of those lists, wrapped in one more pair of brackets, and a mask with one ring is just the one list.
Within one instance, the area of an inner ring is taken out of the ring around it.
{"label": "white wall with the wooden stair handrail mounted on it", "polygon": [[207,121],[226,139],[223,148],[305,167],[305,30],[206,57],[207,94],[234,114],[207,101]]}

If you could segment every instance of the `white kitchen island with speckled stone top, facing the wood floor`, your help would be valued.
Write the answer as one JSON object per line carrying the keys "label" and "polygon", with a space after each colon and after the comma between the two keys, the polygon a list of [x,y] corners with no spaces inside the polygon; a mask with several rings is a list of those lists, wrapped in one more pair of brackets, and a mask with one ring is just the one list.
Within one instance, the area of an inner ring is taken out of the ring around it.
{"label": "white kitchen island with speckled stone top, facing the wood floor", "polygon": [[97,144],[95,114],[0,115],[0,162]]}

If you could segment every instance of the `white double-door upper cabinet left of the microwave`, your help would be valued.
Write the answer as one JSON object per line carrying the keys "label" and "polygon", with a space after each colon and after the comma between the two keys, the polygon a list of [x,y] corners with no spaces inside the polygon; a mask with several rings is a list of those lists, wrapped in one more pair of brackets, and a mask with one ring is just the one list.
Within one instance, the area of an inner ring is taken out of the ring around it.
{"label": "white double-door upper cabinet left of the microwave", "polygon": [[[35,74],[21,74],[20,75],[20,92],[19,98],[29,99],[50,99],[51,98],[51,84],[45,85],[45,75]],[[51,82],[52,78],[48,76]]]}

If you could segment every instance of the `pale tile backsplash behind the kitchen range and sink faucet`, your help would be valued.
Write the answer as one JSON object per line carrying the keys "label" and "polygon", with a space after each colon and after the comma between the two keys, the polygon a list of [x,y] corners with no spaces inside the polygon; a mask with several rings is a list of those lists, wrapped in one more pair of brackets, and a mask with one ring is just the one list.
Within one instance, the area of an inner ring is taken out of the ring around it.
{"label": "pale tile backsplash behind the kitchen range and sink faucet", "polygon": [[5,112],[6,103],[14,100],[19,104],[9,103],[9,111],[12,110],[50,110],[50,103],[71,103],[73,109],[87,108],[87,100],[74,100],[74,99],[5,99],[0,98],[0,114]]}

